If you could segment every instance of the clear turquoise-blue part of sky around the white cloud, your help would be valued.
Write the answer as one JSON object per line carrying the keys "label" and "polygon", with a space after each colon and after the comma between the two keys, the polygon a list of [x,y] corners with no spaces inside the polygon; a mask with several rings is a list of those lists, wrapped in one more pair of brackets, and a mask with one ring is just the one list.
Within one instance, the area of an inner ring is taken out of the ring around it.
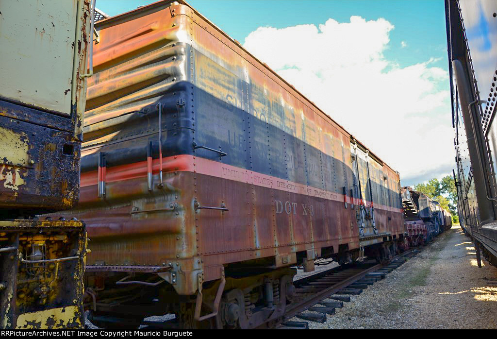
{"label": "clear turquoise-blue part of sky around the white cloud", "polygon": [[[97,0],[96,6],[109,15],[117,15],[155,0]],[[200,13],[231,37],[244,42],[257,27],[283,28],[299,24],[324,23],[328,18],[348,21],[351,15],[366,20],[385,18],[395,29],[390,34],[392,46],[385,56],[406,66],[423,60],[432,51],[442,60],[436,66],[447,69],[445,55],[445,12],[442,0],[191,0]],[[401,48],[401,41],[407,47]]]}

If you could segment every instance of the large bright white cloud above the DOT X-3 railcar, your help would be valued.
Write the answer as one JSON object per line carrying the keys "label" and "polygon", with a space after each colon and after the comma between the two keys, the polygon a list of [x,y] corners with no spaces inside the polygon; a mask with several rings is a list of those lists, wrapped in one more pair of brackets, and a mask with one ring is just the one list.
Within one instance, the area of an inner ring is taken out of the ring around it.
{"label": "large bright white cloud above the DOT X-3 railcar", "polygon": [[428,58],[387,60],[383,18],[259,27],[244,47],[294,85],[392,168],[403,183],[440,177],[454,163],[448,74]]}

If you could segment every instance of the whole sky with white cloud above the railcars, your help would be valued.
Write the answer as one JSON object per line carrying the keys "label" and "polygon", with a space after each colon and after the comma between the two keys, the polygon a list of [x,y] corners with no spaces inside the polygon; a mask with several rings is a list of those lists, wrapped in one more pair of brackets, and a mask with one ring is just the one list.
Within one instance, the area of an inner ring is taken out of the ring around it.
{"label": "whole sky with white cloud above the railcars", "polygon": [[[117,15],[152,2],[96,6]],[[451,173],[442,0],[189,3],[399,170],[403,185]],[[318,46],[316,53],[295,48],[297,41]]]}

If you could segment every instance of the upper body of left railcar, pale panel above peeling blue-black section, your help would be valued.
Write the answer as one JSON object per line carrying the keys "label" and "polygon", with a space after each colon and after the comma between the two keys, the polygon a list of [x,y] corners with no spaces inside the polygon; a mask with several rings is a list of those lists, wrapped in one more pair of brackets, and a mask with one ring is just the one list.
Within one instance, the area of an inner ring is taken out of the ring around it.
{"label": "upper body of left railcar, pale panel above peeling blue-black section", "polygon": [[89,1],[0,8],[0,219],[70,208],[79,194]]}

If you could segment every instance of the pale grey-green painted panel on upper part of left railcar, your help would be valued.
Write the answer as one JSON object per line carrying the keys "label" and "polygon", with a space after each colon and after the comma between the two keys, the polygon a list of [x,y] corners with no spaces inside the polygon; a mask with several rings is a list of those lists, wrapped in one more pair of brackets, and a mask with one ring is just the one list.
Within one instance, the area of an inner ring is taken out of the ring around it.
{"label": "pale grey-green painted panel on upper part of left railcar", "polygon": [[0,96],[71,113],[77,2],[1,1]]}

